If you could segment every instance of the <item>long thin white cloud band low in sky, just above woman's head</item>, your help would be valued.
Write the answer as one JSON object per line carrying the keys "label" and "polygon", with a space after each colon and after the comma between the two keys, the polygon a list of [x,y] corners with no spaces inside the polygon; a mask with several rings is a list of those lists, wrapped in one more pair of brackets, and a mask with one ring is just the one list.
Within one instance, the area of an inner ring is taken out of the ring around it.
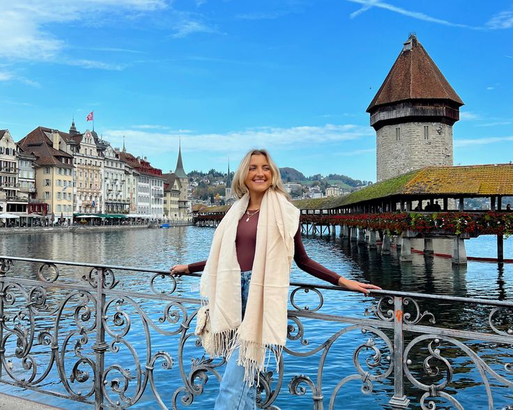
{"label": "long thin white cloud band low in sky, just above woman's head", "polygon": [[[367,126],[360,125],[332,125],[326,124],[321,127],[255,127],[243,129],[242,131],[227,132],[225,134],[195,134],[189,132],[149,132],[148,129],[109,129],[103,133],[107,141],[114,145],[123,142],[133,155],[162,154],[164,152],[176,152],[178,139],[182,136],[183,150],[194,152],[215,153],[231,152],[242,155],[250,148],[255,147],[276,147],[281,149],[309,148],[316,143],[330,143],[339,141],[350,141],[372,137],[375,134]],[[148,143],[151,141],[151,144]]]}

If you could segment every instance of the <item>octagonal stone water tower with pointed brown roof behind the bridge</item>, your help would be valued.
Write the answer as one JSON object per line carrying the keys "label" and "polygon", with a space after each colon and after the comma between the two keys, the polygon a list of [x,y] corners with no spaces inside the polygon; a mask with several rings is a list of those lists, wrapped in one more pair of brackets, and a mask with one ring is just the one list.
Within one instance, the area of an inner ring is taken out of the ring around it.
{"label": "octagonal stone water tower with pointed brown roof behind the bridge", "polygon": [[377,182],[424,166],[452,166],[452,125],[462,105],[411,34],[367,108],[376,130]]}

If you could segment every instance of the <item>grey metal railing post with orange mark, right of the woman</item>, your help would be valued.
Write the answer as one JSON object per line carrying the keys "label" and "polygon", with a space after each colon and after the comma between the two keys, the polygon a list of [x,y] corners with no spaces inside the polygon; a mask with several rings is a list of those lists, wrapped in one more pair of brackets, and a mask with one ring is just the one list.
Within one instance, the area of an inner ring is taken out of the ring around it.
{"label": "grey metal railing post with orange mark, right of the woman", "polygon": [[390,405],[394,410],[407,409],[410,400],[404,395],[404,333],[403,333],[403,298],[394,297],[394,396]]}

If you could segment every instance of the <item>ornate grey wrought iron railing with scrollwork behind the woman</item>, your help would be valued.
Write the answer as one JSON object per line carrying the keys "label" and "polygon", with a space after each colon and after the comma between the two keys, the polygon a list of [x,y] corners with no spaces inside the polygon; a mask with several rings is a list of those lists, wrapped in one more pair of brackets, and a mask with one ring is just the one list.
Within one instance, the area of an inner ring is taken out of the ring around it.
{"label": "ornate grey wrought iron railing with scrollwork behind the woman", "polygon": [[[0,256],[0,382],[95,409],[212,408],[224,360],[205,357],[194,336],[199,299],[186,282],[164,270]],[[350,391],[377,397],[375,408],[510,408],[512,302],[383,290],[362,298],[361,314],[324,312],[347,298],[291,283],[286,354],[261,374],[259,407],[353,409]],[[444,306],[452,313],[430,312]],[[326,327],[316,343],[314,324]],[[351,334],[364,340],[341,347]],[[481,402],[461,399],[468,389]],[[292,396],[303,401],[286,404]]]}

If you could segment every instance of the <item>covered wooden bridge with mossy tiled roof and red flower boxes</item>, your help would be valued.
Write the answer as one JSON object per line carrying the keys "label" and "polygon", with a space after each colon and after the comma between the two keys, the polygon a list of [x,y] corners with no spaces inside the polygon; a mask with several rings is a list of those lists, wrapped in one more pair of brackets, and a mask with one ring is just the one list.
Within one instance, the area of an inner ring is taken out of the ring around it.
{"label": "covered wooden bridge with mossy tiled roof and red flower boxes", "polygon": [[[381,181],[346,196],[296,200],[303,232],[339,235],[390,252],[390,237],[399,237],[401,260],[411,260],[411,239],[453,239],[452,260],[466,263],[464,239],[497,235],[498,260],[504,259],[503,235],[513,233],[513,212],[504,197],[513,196],[513,165],[432,166]],[[467,210],[466,198],[487,198],[486,210]],[[513,204],[512,204],[513,205]],[[215,224],[228,207],[205,207],[195,221]]]}

